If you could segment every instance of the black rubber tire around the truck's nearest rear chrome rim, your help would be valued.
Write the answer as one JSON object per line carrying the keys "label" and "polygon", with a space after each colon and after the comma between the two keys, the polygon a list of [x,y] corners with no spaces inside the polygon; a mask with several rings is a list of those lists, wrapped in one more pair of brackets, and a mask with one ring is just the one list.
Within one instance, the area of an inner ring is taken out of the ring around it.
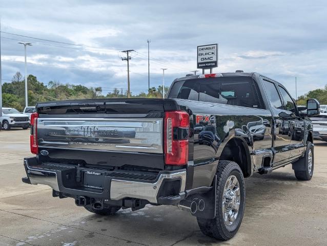
{"label": "black rubber tire around the truck's nearest rear chrome rim", "polygon": [[[231,176],[235,176],[239,182],[240,204],[235,221],[231,225],[227,225],[223,219],[223,209],[221,205],[226,182]],[[232,238],[237,233],[242,222],[245,208],[245,198],[246,190],[244,177],[237,163],[228,160],[219,161],[217,170],[216,217],[213,219],[197,217],[197,223],[201,232],[207,236],[214,237],[219,240],[228,240]]]}

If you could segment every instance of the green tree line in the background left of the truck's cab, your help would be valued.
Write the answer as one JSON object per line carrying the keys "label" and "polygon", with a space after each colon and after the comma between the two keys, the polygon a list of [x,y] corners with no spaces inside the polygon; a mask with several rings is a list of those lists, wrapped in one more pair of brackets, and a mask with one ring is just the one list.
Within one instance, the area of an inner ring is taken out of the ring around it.
{"label": "green tree line in the background left of the truck's cab", "polygon": [[[103,94],[101,87],[86,87],[83,85],[62,84],[58,81],[49,81],[44,84],[30,74],[27,77],[28,102],[34,106],[40,101],[86,99],[86,98],[124,98],[127,91],[114,89],[112,92]],[[168,92],[169,87],[165,87]],[[147,93],[131,94],[131,97],[162,98],[162,86],[151,88]],[[20,72],[16,72],[11,83],[2,85],[3,107],[15,108],[23,111],[25,107],[25,79]]]}

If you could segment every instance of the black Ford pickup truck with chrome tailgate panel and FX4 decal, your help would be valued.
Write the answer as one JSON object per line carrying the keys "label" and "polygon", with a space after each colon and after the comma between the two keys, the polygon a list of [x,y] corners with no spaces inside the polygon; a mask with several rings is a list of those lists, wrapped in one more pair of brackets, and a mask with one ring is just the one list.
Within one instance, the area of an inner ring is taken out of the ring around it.
{"label": "black Ford pickup truck with chrome tailgate panel and FX4 decal", "polygon": [[36,156],[24,159],[23,182],[48,185],[54,197],[101,215],[177,206],[204,234],[227,240],[243,217],[244,178],[292,163],[298,179],[311,179],[307,115],[319,114],[318,101],[306,109],[300,113],[277,81],[244,72],[175,79],[165,99],[38,103]]}

